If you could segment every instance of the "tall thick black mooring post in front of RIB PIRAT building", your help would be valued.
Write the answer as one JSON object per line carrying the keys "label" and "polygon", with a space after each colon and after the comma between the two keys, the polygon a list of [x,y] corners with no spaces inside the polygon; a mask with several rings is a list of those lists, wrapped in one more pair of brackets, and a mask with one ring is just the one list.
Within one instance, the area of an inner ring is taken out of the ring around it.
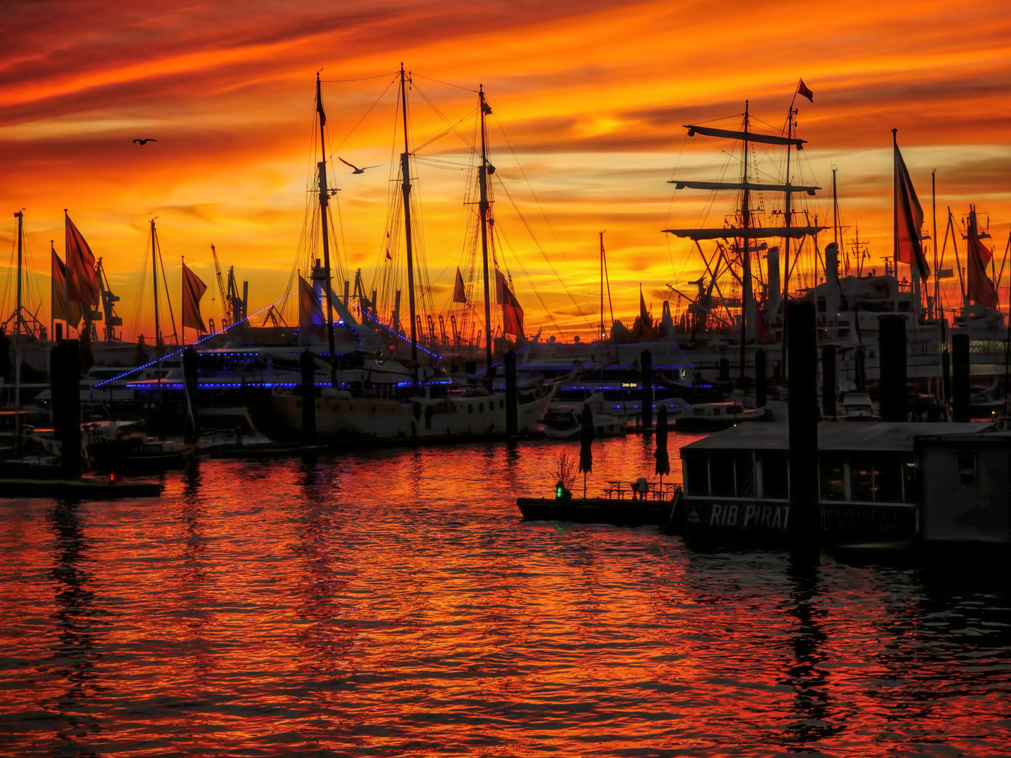
{"label": "tall thick black mooring post in front of RIB PIRAT building", "polygon": [[791,548],[818,550],[821,508],[818,502],[818,344],[814,303],[787,303],[787,370],[790,373],[790,520]]}

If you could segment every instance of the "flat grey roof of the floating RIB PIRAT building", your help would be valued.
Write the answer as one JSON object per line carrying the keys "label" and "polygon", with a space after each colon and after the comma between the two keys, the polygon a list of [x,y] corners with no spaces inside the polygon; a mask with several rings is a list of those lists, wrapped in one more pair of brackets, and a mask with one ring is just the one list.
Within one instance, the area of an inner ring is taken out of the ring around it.
{"label": "flat grey roof of the floating RIB PIRAT building", "polygon": [[[818,449],[911,453],[917,437],[978,435],[993,429],[994,424],[990,422],[823,421],[818,424]],[[790,434],[785,421],[749,421],[685,445],[681,450],[788,450],[789,448]]]}

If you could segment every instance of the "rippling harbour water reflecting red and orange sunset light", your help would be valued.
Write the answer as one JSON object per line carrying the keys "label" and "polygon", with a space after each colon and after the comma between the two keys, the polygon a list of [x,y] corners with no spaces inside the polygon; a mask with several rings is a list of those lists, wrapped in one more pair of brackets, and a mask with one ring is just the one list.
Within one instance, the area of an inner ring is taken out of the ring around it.
{"label": "rippling harbour water reflecting red and orange sunset light", "polygon": [[[0,754],[1011,752],[1006,583],[524,524],[558,450],[213,461],[161,500],[0,501]],[[652,463],[599,444],[590,484]]]}

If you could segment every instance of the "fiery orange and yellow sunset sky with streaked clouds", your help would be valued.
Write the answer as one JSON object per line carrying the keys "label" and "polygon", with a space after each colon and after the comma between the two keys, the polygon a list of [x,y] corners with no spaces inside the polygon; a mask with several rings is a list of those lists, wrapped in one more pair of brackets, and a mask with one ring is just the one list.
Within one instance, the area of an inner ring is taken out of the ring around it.
{"label": "fiery orange and yellow sunset sky with streaked clouds", "polygon": [[[798,98],[799,135],[809,140],[801,171],[825,188],[811,210],[820,219],[831,212],[837,168],[844,239],[858,224],[875,265],[892,247],[893,127],[926,231],[933,169],[938,213],[950,205],[958,219],[975,203],[989,215],[998,262],[1011,228],[1006,2],[81,0],[8,3],[4,14],[0,263],[12,250],[12,214],[24,208],[45,323],[49,241],[62,256],[64,208],[104,259],[127,339],[150,334],[150,311],[137,315],[136,299],[151,214],[173,291],[185,256],[216,297],[214,244],[222,264],[250,280],[251,310],[282,297],[316,160],[317,70],[335,156],[379,164],[363,175],[342,164],[331,171],[342,190],[341,255],[371,282],[399,152],[393,90],[366,111],[401,61],[416,75],[413,145],[446,128],[422,93],[450,121],[469,119],[460,129],[473,133],[468,90],[484,86],[502,181],[496,216],[515,251],[504,263],[529,331],[591,336],[602,229],[616,315],[631,319],[640,284],[658,313],[665,284],[683,288],[701,268],[661,229],[700,222],[711,200],[666,182],[719,178],[726,159],[726,145],[688,140],[681,125],[734,116],[748,99],[757,126],[775,131],[799,78],[815,93],[813,103]],[[452,134],[422,153],[465,160]],[[446,161],[417,168],[437,307],[452,289],[468,212],[466,172]],[[714,206],[710,224],[727,210]],[[8,288],[5,308],[11,302]],[[218,299],[205,303],[218,321]]]}

